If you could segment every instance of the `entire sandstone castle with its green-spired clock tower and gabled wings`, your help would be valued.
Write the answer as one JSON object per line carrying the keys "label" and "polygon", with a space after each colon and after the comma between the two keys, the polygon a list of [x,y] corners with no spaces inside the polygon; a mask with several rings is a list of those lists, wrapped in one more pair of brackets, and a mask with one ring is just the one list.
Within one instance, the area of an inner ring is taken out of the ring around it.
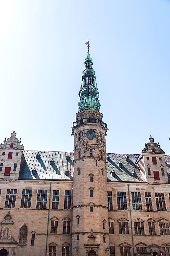
{"label": "entire sandstone castle with its green-spired clock tower and gabled wings", "polygon": [[0,256],[170,256],[170,156],[106,153],[87,44],[74,152],[0,144]]}

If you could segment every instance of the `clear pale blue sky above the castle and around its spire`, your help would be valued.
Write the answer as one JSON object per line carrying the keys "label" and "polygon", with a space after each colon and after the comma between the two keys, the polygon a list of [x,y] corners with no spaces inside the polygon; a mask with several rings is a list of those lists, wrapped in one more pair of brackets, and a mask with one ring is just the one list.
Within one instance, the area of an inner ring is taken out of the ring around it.
{"label": "clear pale blue sky above the castle and around its spire", "polygon": [[170,154],[170,1],[1,1],[0,142],[73,151],[85,42],[108,124],[108,153]]}

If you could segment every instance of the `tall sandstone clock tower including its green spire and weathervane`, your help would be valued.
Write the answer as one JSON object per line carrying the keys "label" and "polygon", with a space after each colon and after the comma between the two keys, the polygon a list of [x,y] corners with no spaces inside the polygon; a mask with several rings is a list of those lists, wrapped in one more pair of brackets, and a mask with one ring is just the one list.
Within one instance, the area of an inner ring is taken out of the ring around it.
{"label": "tall sandstone clock tower including its green spire and weathervane", "polygon": [[109,255],[106,132],[99,112],[95,72],[89,54],[79,92],[79,112],[73,123],[74,179],[72,255]]}

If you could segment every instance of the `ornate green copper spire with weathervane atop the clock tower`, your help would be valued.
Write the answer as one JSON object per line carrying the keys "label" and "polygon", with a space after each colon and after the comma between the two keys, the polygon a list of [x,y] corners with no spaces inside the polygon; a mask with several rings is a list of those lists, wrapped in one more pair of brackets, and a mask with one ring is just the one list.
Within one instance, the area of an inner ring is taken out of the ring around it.
{"label": "ornate green copper spire with weathervane atop the clock tower", "polygon": [[92,110],[100,110],[100,102],[98,100],[99,98],[99,92],[97,88],[97,84],[95,87],[95,71],[93,70],[93,61],[90,57],[89,53],[89,40],[86,42],[88,45],[88,51],[87,51],[87,57],[84,62],[85,68],[83,71],[82,81],[83,86],[81,84],[79,97],[80,101],[78,104],[78,111],[82,111],[85,109],[92,109]]}

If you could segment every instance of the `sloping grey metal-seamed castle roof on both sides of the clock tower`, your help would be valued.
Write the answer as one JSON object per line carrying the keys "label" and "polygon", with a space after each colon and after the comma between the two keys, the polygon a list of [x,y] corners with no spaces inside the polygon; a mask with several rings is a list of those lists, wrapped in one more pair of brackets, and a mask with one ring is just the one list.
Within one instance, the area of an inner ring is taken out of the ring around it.
{"label": "sloping grey metal-seamed castle roof on both sides of the clock tower", "polygon": [[[40,154],[40,159],[36,159],[36,155]],[[48,180],[73,180],[73,152],[58,151],[23,151],[25,163],[19,175],[19,179],[48,179]],[[66,160],[66,156],[70,156],[70,160]],[[135,164],[139,158],[139,154],[107,154],[110,160],[107,162],[107,180],[108,182],[145,182],[139,167]],[[125,157],[129,157],[129,162]],[[53,158],[55,164],[50,165]],[[122,162],[122,167],[118,163]],[[165,156],[168,180],[170,183],[170,156]],[[37,174],[33,175],[32,170],[37,170]],[[66,175],[69,170],[69,176]],[[136,171],[137,177],[133,177],[133,171]],[[112,177],[112,172],[115,177]]]}

